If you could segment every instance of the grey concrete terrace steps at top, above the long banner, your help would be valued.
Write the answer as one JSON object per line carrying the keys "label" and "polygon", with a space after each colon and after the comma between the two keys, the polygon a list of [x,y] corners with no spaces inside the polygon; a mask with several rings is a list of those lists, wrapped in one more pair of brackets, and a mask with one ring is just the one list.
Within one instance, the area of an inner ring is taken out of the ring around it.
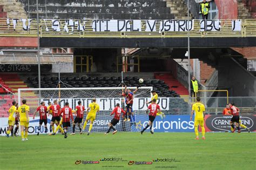
{"label": "grey concrete terrace steps at top, above the long banner", "polygon": [[[36,0],[21,0],[30,18],[36,18]],[[45,7],[46,6],[46,7]],[[160,0],[39,0],[40,18],[60,19],[173,19]]]}

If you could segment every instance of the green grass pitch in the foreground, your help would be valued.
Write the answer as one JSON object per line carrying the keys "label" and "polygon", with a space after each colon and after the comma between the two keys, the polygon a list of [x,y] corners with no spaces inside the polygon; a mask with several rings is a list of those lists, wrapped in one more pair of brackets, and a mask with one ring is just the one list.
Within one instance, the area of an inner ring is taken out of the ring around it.
{"label": "green grass pitch in the foreground", "polygon": [[[0,169],[256,169],[256,133],[94,133],[0,138]],[[104,158],[123,161],[99,161]],[[128,165],[152,161],[152,165]],[[99,161],[78,164],[77,160]]]}

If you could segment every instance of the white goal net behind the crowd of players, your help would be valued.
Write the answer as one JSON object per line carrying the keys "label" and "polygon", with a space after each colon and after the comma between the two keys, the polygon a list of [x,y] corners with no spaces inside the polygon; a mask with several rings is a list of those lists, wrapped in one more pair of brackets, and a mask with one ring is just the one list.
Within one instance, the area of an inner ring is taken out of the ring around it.
{"label": "white goal net behind the crowd of players", "polygon": [[[127,87],[131,92],[136,90],[136,88],[137,87]],[[131,115],[130,121],[124,121],[123,118],[120,118],[119,123],[115,126],[119,132],[138,132],[143,129],[143,126],[145,126],[143,124],[148,121],[148,115],[145,111],[148,106],[146,102],[151,100],[151,90],[152,87],[139,87],[138,91],[133,94],[133,113],[135,117]],[[85,107],[86,111],[87,107],[92,102],[92,99],[96,98],[96,103],[99,104],[100,111],[96,115],[96,120],[93,122],[91,132],[106,132],[109,128],[108,124],[113,118],[113,115],[110,115],[110,113],[114,106],[119,103],[125,110],[125,98],[120,95],[123,92],[124,87],[18,89],[18,104],[19,106],[22,105],[22,100],[26,99],[27,105],[30,106],[30,123],[37,123],[39,120],[33,120],[31,118],[31,113],[36,110],[41,101],[45,101],[45,105],[48,106],[48,102],[53,103],[53,100],[57,99],[61,107],[64,107],[64,104],[69,102],[69,106],[72,110],[75,110],[75,107],[78,105],[78,101],[82,101],[82,105]],[[84,114],[84,121],[85,118],[86,114]],[[50,120],[51,115],[48,117],[48,123],[50,123]],[[90,124],[87,123],[86,131],[88,130],[89,125]],[[41,129],[44,129],[43,126]],[[71,130],[72,127],[69,128],[69,132],[71,132]],[[78,130],[78,127],[76,127],[76,130]]]}

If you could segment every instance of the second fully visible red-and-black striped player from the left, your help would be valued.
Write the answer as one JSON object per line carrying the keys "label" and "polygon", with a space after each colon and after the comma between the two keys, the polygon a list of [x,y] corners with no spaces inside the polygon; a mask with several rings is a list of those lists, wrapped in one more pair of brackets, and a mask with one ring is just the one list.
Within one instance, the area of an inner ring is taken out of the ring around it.
{"label": "second fully visible red-and-black striped player from the left", "polygon": [[[60,121],[60,117],[59,117],[60,106],[58,105],[58,100],[53,101],[53,105],[51,105],[51,107],[48,108],[48,112],[49,113],[52,112],[51,127],[52,127],[52,131],[54,132],[54,124],[58,126]],[[55,121],[57,121],[57,123],[55,123]]]}

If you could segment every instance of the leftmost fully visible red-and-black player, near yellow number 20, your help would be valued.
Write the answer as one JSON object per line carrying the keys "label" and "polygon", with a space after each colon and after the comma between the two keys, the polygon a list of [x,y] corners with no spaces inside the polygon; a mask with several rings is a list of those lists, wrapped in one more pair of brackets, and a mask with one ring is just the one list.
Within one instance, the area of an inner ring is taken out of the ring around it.
{"label": "leftmost fully visible red-and-black player, near yellow number 20", "polygon": [[38,126],[38,133],[41,131],[41,126],[44,123],[44,133],[47,133],[47,107],[45,106],[44,101],[41,102],[41,105],[37,107],[37,110],[33,114],[33,119],[35,119],[36,112],[39,111],[40,120],[39,120],[39,126]]}

